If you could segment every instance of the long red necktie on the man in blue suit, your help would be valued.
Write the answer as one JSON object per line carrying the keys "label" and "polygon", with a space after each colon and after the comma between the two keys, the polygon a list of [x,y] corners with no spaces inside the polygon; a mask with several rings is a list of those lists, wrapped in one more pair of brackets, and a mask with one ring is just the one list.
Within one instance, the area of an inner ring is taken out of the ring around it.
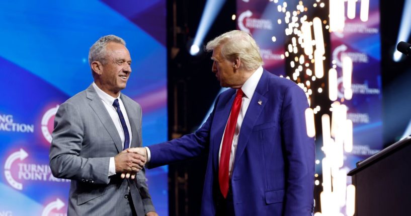
{"label": "long red necktie on the man in blue suit", "polygon": [[237,124],[237,118],[241,108],[242,95],[243,93],[241,89],[238,89],[234,102],[232,103],[231,114],[228,118],[227,126],[225,126],[223,143],[221,147],[218,182],[220,183],[220,190],[224,198],[227,197],[228,193],[228,164],[230,162],[231,144],[234,136],[235,125]]}

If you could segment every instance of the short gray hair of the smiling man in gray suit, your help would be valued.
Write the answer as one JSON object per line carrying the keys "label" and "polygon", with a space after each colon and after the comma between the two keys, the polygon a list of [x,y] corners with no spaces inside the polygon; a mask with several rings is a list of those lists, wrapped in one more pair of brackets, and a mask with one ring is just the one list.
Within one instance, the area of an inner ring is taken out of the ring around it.
{"label": "short gray hair of the smiling man in gray suit", "polygon": [[102,64],[107,63],[106,59],[106,46],[109,42],[115,42],[126,45],[126,42],[118,36],[115,35],[106,35],[101,37],[96,41],[89,51],[89,64],[91,66],[93,61],[100,61]]}

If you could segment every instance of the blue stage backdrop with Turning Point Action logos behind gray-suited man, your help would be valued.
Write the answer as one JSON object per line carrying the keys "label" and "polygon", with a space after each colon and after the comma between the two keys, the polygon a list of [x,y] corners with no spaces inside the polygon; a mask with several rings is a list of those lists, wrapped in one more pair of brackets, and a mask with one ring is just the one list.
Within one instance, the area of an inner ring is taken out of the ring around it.
{"label": "blue stage backdrop with Turning Point Action logos behind gray-suited man", "polygon": [[[66,215],[69,180],[48,152],[59,104],[92,82],[90,46],[115,34],[133,60],[123,91],[143,109],[143,145],[167,139],[166,1],[0,2],[0,215]],[[146,172],[168,215],[167,167]]]}

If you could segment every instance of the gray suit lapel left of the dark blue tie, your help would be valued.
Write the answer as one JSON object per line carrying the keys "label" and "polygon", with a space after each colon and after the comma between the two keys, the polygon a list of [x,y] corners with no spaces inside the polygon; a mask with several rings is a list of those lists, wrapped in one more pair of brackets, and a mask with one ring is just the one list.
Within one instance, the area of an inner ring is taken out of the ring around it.
{"label": "gray suit lapel left of the dark blue tie", "polygon": [[123,151],[120,135],[118,134],[116,126],[114,125],[113,120],[107,112],[106,107],[104,107],[103,102],[97,95],[96,90],[94,90],[93,85],[90,85],[89,88],[87,88],[86,97],[91,100],[89,105],[97,114],[97,117],[100,119],[101,123],[106,128],[107,132],[110,134],[111,138],[113,139],[116,145],[117,151]]}

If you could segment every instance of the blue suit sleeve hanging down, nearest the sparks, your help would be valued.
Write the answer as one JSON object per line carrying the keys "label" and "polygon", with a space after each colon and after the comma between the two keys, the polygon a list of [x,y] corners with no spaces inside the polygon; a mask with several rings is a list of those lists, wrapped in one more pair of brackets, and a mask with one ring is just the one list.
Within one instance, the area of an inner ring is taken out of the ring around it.
{"label": "blue suit sleeve hanging down, nearest the sparks", "polygon": [[284,215],[311,215],[314,196],[315,146],[305,123],[307,98],[298,86],[289,87],[281,111],[285,149],[286,197]]}

